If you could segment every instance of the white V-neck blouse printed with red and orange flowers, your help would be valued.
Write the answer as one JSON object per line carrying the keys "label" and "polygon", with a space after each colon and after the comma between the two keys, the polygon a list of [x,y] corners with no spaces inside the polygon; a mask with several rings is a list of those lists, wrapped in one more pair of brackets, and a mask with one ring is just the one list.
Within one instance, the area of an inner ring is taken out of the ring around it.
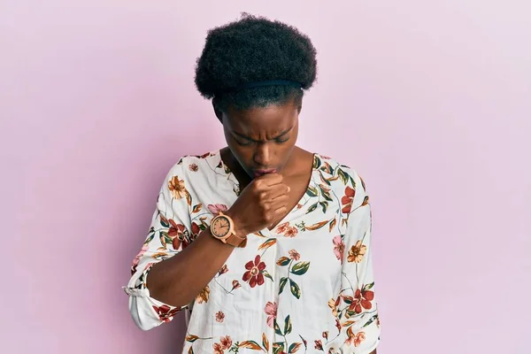
{"label": "white V-neck blouse printed with red and orange flowers", "polygon": [[355,171],[319,154],[296,207],[273,231],[248,235],[193,304],[175,308],[150,297],[150,267],[178,255],[239,193],[219,150],[173,166],[124,287],[136,325],[148,330],[193,307],[183,353],[374,350],[380,321],[369,198]]}

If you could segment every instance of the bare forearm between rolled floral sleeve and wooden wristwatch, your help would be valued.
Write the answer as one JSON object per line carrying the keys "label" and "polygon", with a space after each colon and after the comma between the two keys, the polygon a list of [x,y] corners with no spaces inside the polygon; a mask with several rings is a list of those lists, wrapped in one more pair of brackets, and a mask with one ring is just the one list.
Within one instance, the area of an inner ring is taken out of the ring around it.
{"label": "bare forearm between rolled floral sleeve and wooden wristwatch", "polygon": [[189,304],[212,281],[233,250],[233,246],[214,239],[209,229],[204,230],[178,255],[150,269],[150,296],[176,307]]}

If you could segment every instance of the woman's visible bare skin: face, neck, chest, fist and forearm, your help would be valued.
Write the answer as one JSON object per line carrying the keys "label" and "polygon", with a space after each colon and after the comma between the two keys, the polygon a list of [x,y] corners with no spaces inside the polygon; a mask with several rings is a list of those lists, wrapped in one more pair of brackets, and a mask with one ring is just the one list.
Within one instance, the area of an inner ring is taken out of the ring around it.
{"label": "woman's visible bare skin: face, neck, chest, fist and forearm", "polygon": [[[235,174],[242,195],[245,193],[244,198],[247,198],[236,205],[240,196],[227,211],[235,221],[236,235],[254,231],[242,227],[242,220],[249,219],[249,215],[239,219],[243,210],[250,209],[249,205],[242,207],[241,204],[249,200],[254,202],[253,197],[257,198],[257,204],[271,206],[265,215],[270,218],[268,227],[275,227],[304,195],[312,174],[313,154],[296,146],[302,104],[292,99],[286,104],[242,111],[232,107],[222,111],[215,103],[213,108],[223,124],[227,141],[221,158]],[[268,169],[275,172],[255,175],[257,171]],[[252,190],[246,191],[247,187]],[[258,212],[266,209],[258,209]],[[256,213],[251,211],[250,215]],[[233,250],[234,247],[214,239],[210,230],[203,231],[179,257],[169,258],[151,268],[148,277],[151,296],[177,307],[189,304],[212,281]],[[204,262],[206,258],[210,262]],[[375,353],[376,350],[371,354]]]}

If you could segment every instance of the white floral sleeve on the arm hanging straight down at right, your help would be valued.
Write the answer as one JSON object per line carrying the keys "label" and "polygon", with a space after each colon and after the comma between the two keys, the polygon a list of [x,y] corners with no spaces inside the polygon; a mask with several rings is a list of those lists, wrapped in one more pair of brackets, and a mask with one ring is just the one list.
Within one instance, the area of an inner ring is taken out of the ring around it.
{"label": "white floral sleeve on the arm hanging straight down at right", "polygon": [[357,173],[352,173],[351,181],[354,196],[344,237],[342,291],[335,305],[338,327],[341,326],[344,338],[341,352],[369,354],[380,342],[380,320],[374,298],[372,213],[364,181]]}

